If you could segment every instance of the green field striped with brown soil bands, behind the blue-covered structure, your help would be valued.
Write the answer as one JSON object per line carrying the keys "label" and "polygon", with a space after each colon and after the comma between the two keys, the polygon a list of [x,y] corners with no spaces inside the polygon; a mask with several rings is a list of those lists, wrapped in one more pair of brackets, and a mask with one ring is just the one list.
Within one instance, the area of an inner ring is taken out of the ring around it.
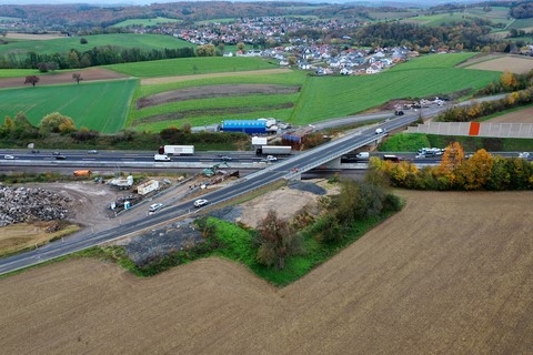
{"label": "green field striped with brown soil bands, behind the blue-covered structure", "polygon": [[[288,88],[300,88],[305,78],[301,71],[276,70],[240,72],[235,75],[215,78],[210,75],[191,77],[187,81],[175,81],[161,84],[140,85],[134,95],[134,103],[130,110],[128,124],[139,130],[160,130],[169,125],[181,126],[184,122],[192,125],[220,123],[224,119],[258,119],[260,116],[275,116],[280,120],[289,119],[292,108],[298,100],[298,90],[286,91]],[[231,94],[217,92],[213,88],[231,87]],[[247,89],[239,89],[247,85]],[[270,88],[265,90],[264,88]],[[278,88],[278,89],[275,89]],[[190,92],[184,98],[181,92]],[[209,99],[205,92],[210,92]],[[255,92],[255,94],[253,94]],[[283,94],[278,94],[283,93]],[[292,93],[291,93],[292,92]],[[148,109],[138,109],[140,100],[151,101],[154,95],[180,95],[160,105]],[[192,98],[197,99],[192,99]],[[167,116],[167,119],[165,119]]]}

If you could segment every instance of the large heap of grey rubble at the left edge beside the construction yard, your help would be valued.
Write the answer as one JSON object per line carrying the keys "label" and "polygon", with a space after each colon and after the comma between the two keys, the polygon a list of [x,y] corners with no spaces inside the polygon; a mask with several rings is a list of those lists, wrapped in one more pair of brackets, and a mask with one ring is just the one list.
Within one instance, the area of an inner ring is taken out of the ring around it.
{"label": "large heap of grey rubble at the left edge beside the construction yard", "polygon": [[64,220],[72,199],[43,189],[0,184],[0,226],[31,221]]}

